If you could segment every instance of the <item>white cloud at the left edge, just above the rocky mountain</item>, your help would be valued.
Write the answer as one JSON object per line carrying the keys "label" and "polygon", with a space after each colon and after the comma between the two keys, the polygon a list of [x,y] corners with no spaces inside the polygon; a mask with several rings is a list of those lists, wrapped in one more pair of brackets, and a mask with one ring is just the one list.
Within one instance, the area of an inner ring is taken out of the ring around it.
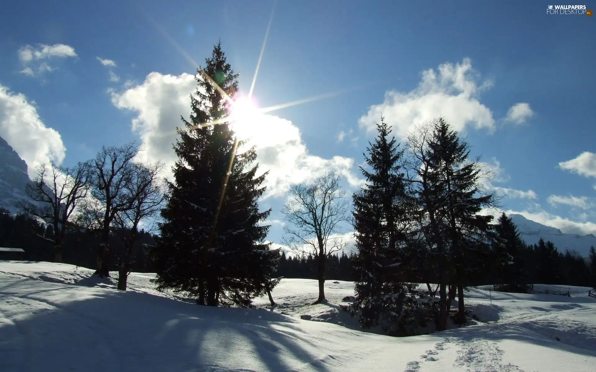
{"label": "white cloud at the left edge, just above the rocky mountain", "polygon": [[0,85],[0,136],[27,162],[29,176],[42,163],[64,160],[66,148],[60,133],[42,122],[26,96]]}

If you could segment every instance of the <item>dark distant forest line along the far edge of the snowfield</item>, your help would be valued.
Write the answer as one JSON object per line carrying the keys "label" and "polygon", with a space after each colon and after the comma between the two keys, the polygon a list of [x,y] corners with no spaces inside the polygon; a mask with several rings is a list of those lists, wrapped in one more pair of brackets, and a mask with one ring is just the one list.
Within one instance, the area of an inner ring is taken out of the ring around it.
{"label": "dark distant forest line along the far edge of the snowfield", "polygon": [[[52,236],[52,227],[45,227],[38,220],[21,214],[11,214],[0,209],[0,246],[21,248],[26,261],[52,261],[53,245],[46,237]],[[79,267],[97,268],[97,246],[101,239],[97,233],[87,231],[69,232],[64,241],[63,262]],[[113,246],[117,249],[121,240],[114,236]],[[154,273],[148,255],[148,246],[153,245],[154,237],[141,231],[135,242],[131,270],[137,273]],[[120,247],[122,248],[122,247]],[[551,242],[539,242],[526,245],[522,251],[522,267],[527,273],[527,283],[591,286],[591,270],[588,258],[576,252],[559,252]],[[332,255],[325,264],[325,279],[355,281],[353,270],[353,253]],[[111,271],[116,271],[113,263]],[[317,279],[316,261],[312,257],[299,257],[293,254],[281,255],[277,265],[276,276],[291,279]],[[422,276],[406,278],[408,282],[424,283]],[[468,285],[499,285],[499,267],[479,273],[471,277]]]}

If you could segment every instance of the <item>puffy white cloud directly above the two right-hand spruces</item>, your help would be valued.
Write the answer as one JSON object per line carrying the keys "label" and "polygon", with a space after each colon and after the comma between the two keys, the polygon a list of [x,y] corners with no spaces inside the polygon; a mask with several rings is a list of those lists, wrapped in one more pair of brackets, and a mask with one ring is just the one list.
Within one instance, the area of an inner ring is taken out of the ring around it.
{"label": "puffy white cloud directly above the two right-hand spruces", "polygon": [[479,86],[476,77],[469,58],[464,58],[461,64],[439,65],[437,72],[432,68],[426,70],[418,87],[411,92],[386,92],[384,102],[371,106],[360,118],[360,126],[374,131],[375,123],[383,115],[396,135],[403,138],[416,124],[442,116],[458,131],[467,125],[492,131],[495,127],[492,112],[478,101],[479,92],[491,83]]}

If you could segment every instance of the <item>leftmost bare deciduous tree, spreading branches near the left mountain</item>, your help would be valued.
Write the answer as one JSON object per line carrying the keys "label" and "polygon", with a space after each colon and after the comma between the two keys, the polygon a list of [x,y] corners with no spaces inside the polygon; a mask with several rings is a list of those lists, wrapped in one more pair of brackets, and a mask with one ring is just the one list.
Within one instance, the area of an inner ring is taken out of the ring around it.
{"label": "leftmost bare deciduous tree, spreading branches near the left mountain", "polygon": [[70,217],[89,190],[89,164],[79,162],[75,167],[66,168],[51,162],[39,165],[37,172],[38,176],[26,189],[33,203],[24,202],[20,207],[52,226],[52,237],[44,239],[54,245],[53,261],[62,262]]}

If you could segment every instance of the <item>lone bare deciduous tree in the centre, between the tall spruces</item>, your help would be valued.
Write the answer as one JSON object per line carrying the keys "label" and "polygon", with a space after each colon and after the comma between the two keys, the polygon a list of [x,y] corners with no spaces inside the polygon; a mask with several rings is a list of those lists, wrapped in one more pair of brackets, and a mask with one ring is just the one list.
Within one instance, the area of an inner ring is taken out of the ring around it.
{"label": "lone bare deciduous tree in the centre, between the tall spruces", "polygon": [[[328,172],[311,185],[290,188],[290,201],[282,210],[294,228],[284,227],[284,244],[294,251],[311,255],[317,263],[319,298],[325,301],[325,259],[342,250],[346,243],[333,235],[349,220],[346,193],[340,188],[339,174]],[[331,245],[331,247],[330,247]]]}

